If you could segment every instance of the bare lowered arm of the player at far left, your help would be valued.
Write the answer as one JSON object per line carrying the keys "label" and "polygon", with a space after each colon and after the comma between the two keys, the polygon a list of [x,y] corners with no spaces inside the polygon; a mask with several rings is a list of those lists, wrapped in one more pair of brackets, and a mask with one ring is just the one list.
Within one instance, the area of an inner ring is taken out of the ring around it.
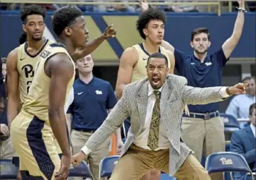
{"label": "bare lowered arm of the player at far left", "polygon": [[10,127],[12,120],[17,116],[20,109],[19,73],[17,71],[17,49],[12,50],[7,56],[7,120]]}

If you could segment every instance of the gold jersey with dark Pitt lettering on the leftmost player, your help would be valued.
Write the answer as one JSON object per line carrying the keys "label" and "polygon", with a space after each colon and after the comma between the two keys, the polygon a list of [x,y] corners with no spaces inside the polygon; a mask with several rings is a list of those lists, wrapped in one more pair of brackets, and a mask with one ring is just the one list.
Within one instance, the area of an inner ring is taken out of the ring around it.
{"label": "gold jersey with dark Pitt lettering on the leftmost player", "polygon": [[30,55],[29,53],[27,53],[27,42],[23,43],[18,48],[17,71],[20,74],[19,88],[21,105],[24,104],[25,99],[27,98],[30,84],[32,83],[35,75],[35,66],[40,59],[40,53],[44,48],[52,43],[54,42],[46,39],[42,48],[35,55]]}

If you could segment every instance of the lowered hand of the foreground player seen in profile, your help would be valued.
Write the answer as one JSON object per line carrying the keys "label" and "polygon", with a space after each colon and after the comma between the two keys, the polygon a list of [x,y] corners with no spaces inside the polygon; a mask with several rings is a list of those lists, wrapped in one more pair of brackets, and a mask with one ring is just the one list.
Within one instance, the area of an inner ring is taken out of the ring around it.
{"label": "lowered hand of the foreground player seen in profile", "polygon": [[66,180],[69,175],[69,167],[70,167],[70,156],[62,156],[61,157],[61,168],[59,172],[55,174],[55,180]]}

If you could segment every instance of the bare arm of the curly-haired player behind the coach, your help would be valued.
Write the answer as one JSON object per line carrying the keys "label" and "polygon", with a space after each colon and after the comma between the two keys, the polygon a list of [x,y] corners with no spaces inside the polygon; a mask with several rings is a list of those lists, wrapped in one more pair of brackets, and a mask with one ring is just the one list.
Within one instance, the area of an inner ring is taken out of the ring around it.
{"label": "bare arm of the curly-haired player behind the coach", "polygon": [[119,99],[121,98],[124,86],[131,82],[133,67],[137,63],[138,58],[139,55],[135,48],[127,48],[121,55],[116,80],[116,97]]}

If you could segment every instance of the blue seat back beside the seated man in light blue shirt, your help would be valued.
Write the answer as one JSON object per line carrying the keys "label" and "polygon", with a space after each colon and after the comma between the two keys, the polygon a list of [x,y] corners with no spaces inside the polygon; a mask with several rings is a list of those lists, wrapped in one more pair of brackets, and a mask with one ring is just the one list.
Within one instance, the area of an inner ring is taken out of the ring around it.
{"label": "blue seat back beside the seated man in light blue shirt", "polygon": [[231,114],[220,113],[221,119],[224,122],[225,130],[234,131],[239,130],[239,122]]}

